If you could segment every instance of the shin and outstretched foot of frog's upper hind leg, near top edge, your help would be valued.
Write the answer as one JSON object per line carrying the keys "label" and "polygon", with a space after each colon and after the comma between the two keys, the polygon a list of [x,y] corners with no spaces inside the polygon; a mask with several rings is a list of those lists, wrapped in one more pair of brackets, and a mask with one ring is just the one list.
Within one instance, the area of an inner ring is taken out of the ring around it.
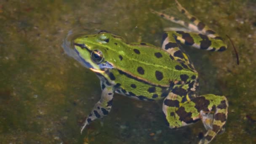
{"label": "shin and outstretched foot of frog's upper hind leg, near top edge", "polygon": [[177,33],[174,34],[177,42],[207,51],[225,51],[227,49],[227,44],[224,43],[223,39],[216,34],[216,32],[210,29],[202,21],[198,20],[195,16],[191,15],[177,0],[176,4],[179,11],[181,11],[191,23],[187,23],[157,11],[152,10],[152,13],[156,13],[157,15],[188,29],[172,29]]}

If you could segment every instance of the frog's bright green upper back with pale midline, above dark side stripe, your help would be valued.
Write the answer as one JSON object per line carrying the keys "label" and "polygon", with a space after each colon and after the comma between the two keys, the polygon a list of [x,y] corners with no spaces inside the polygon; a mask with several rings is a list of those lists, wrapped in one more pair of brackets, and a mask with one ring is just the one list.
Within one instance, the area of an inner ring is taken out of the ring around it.
{"label": "frog's bright green upper back with pale midline, above dark side stripe", "polygon": [[[120,47],[118,47],[119,44]],[[187,80],[197,77],[194,69],[189,68],[182,61],[176,61],[171,54],[161,48],[147,43],[117,43],[116,46],[117,51],[109,48],[111,51],[109,56],[119,57],[119,59],[113,59],[116,69],[141,81],[169,87],[174,81],[184,81],[183,77],[187,77]]]}

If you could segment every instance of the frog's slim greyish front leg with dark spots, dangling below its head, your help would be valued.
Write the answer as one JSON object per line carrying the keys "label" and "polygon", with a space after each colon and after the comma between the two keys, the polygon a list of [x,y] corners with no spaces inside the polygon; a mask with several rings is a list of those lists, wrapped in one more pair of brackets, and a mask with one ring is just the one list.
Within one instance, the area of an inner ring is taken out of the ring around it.
{"label": "frog's slim greyish front leg with dark spots, dangling below its head", "polygon": [[103,82],[101,82],[101,89],[102,89],[101,99],[94,105],[90,115],[87,116],[81,128],[81,134],[86,125],[91,123],[93,120],[96,120],[98,118],[102,118],[108,115],[111,110],[112,100],[114,95],[113,87],[105,85]]}

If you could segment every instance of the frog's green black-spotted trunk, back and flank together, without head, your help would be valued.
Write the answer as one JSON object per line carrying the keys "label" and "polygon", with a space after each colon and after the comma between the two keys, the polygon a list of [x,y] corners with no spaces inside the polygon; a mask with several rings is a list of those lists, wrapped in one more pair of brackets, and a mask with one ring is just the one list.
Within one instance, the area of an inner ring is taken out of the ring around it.
{"label": "frog's green black-spotted trunk, back and flank together, without head", "polygon": [[[197,72],[171,54],[146,43],[124,44],[110,55],[120,67],[109,69],[116,92],[140,100],[158,100],[168,95],[175,85],[195,80]],[[118,46],[118,43],[117,43]]]}

